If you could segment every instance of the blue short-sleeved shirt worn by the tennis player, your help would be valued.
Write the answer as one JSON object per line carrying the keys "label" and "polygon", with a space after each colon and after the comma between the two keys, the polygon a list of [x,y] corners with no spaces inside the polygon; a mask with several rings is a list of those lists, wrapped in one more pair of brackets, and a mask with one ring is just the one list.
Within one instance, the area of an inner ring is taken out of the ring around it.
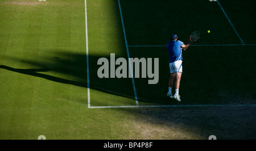
{"label": "blue short-sleeved shirt worn by the tennis player", "polygon": [[181,52],[181,45],[184,43],[180,40],[172,40],[170,43],[166,45],[167,51],[169,53],[169,62],[175,62],[178,60],[183,60],[182,52]]}

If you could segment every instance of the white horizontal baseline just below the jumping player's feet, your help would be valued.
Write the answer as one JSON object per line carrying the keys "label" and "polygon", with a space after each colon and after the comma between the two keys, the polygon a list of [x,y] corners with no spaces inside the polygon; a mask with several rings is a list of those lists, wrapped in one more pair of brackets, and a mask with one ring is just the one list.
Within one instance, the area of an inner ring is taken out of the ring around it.
{"label": "white horizontal baseline just below the jumping player's feet", "polygon": [[139,108],[139,107],[255,107],[256,104],[188,104],[188,105],[159,105],[159,106],[94,106],[89,108]]}

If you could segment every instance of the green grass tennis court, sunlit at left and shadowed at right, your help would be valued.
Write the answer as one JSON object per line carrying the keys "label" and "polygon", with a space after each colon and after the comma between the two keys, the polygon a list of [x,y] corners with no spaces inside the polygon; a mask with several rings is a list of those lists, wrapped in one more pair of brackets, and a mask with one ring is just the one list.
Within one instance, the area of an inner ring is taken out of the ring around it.
{"label": "green grass tennis court, sunlit at left and shadowed at right", "polygon": [[[1,1],[0,139],[255,139],[254,6],[249,0]],[[201,37],[183,51],[177,102],[166,96],[164,45],[172,32],[188,43],[193,31]],[[97,62],[110,61],[110,53],[159,58],[158,83],[99,78]]]}

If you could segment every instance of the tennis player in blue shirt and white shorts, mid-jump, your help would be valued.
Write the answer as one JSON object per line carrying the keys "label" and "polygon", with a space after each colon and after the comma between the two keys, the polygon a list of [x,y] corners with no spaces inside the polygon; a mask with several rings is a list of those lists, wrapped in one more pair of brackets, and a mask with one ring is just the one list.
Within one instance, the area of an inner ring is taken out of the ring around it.
{"label": "tennis player in blue shirt and white shorts, mid-jump", "polygon": [[[166,45],[169,54],[169,66],[171,77],[169,79],[169,91],[167,95],[170,98],[175,98],[179,102],[181,101],[179,95],[180,79],[182,74],[182,52],[181,49],[187,49],[189,44],[185,45],[182,41],[177,40],[178,36],[174,33],[171,36],[171,41]],[[172,84],[176,77],[175,94],[172,95]]]}

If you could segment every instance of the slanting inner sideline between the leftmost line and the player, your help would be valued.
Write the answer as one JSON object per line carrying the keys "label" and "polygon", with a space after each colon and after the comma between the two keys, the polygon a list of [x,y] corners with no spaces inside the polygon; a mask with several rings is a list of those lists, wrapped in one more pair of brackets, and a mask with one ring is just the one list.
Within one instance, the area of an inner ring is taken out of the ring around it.
{"label": "slanting inner sideline between the leftmost line and the player", "polygon": [[132,71],[133,69],[131,69],[131,61],[129,59],[130,58],[130,53],[129,53],[129,48],[128,48],[127,39],[126,39],[125,24],[123,23],[123,15],[122,15],[122,10],[121,10],[121,4],[120,4],[119,0],[118,0],[118,5],[119,5],[119,11],[120,11],[120,16],[121,16],[121,21],[122,21],[123,35],[125,37],[126,52],[127,52],[127,56],[128,56],[128,60],[129,60],[131,80],[133,81],[134,96],[135,96],[136,105],[138,106],[139,102],[138,102],[137,92],[136,92],[136,88],[135,88],[135,82],[134,82],[134,78],[133,78],[133,71]]}

